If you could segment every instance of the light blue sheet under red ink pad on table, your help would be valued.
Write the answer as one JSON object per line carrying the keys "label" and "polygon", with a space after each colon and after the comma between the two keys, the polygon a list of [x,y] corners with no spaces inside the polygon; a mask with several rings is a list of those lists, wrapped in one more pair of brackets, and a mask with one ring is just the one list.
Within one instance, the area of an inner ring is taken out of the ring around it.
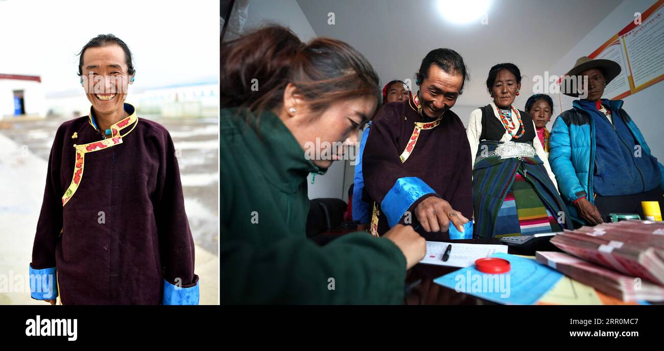
{"label": "light blue sheet under red ink pad on table", "polygon": [[509,253],[491,257],[507,259],[510,271],[502,274],[482,273],[475,265],[461,268],[434,279],[434,283],[507,305],[533,305],[562,278],[562,273],[535,261]]}

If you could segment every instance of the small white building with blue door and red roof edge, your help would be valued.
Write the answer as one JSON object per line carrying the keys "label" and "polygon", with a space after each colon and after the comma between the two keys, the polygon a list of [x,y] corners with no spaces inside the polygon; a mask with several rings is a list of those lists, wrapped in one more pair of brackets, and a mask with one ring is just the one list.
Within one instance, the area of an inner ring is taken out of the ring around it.
{"label": "small white building with blue door and red roof edge", "polygon": [[0,119],[46,116],[40,76],[0,73]]}

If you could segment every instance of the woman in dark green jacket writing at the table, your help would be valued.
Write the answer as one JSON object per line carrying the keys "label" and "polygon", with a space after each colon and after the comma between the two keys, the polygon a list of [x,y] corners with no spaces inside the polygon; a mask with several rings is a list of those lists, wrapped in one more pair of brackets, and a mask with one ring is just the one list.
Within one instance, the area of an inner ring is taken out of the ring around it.
{"label": "woman in dark green jacket writing at the table", "polygon": [[222,303],[402,303],[426,251],[410,226],[326,246],[305,235],[307,175],[343,158],[335,146],[357,143],[376,109],[371,64],[273,26],[222,43],[220,82]]}

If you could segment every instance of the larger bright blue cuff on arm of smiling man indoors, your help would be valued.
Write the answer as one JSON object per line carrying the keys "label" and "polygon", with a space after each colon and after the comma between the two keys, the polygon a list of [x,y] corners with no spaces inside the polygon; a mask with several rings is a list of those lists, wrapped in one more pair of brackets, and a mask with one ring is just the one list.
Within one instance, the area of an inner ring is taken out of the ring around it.
{"label": "larger bright blue cuff on arm of smiling man indoors", "polygon": [[422,179],[416,176],[398,178],[380,202],[380,210],[387,216],[390,228],[396,226],[408,208],[426,194],[436,194],[436,191]]}

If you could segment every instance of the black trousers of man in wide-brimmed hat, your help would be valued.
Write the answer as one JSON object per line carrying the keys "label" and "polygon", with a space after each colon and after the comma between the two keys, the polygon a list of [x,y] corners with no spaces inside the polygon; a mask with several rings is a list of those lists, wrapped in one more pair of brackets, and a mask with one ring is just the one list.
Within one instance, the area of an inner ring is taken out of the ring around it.
{"label": "black trousers of man in wide-brimmed hat", "polygon": [[660,210],[664,211],[664,192],[661,185],[653,190],[641,192],[640,194],[622,195],[622,196],[601,196],[595,197],[595,206],[602,214],[604,222],[610,222],[608,216],[610,213],[635,213],[645,220],[641,201],[658,201]]}

